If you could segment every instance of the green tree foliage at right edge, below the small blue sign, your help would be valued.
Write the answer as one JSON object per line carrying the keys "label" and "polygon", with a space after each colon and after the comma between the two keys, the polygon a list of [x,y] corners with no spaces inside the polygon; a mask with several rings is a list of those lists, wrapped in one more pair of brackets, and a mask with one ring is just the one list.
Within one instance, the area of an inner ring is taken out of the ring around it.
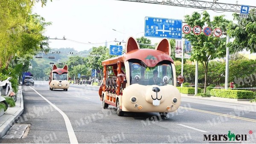
{"label": "green tree foliage at right edge, below the small blue sign", "polygon": [[250,10],[248,18],[241,18],[239,14],[234,13],[234,20],[238,23],[230,23],[227,26],[227,34],[234,38],[233,42],[227,44],[233,52],[239,52],[244,49],[251,53],[256,52],[256,9]]}

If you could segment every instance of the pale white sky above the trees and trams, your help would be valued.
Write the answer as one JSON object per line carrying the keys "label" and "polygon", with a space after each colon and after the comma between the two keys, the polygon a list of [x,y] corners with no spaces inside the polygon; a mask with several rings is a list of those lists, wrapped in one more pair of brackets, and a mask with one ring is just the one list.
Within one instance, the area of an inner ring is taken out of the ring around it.
{"label": "pale white sky above the trees and trams", "polygon": [[[232,4],[236,1],[218,0],[220,3]],[[238,4],[256,6],[255,0],[238,0]],[[145,17],[184,20],[185,15],[195,11],[203,12],[202,9],[119,0],[48,0],[46,6],[41,7],[41,3],[37,3],[33,8],[33,13],[41,15],[47,22],[52,22],[51,26],[47,26],[44,35],[50,38],[65,36],[67,39],[49,40],[51,48],[70,47],[77,51],[88,50],[93,46],[105,46],[106,41],[109,47],[116,44],[113,42],[115,39],[126,41],[129,36],[141,37],[144,35]],[[213,16],[224,14],[226,19],[233,20],[233,12],[207,12],[211,19]],[[147,38],[151,43],[161,40]]]}

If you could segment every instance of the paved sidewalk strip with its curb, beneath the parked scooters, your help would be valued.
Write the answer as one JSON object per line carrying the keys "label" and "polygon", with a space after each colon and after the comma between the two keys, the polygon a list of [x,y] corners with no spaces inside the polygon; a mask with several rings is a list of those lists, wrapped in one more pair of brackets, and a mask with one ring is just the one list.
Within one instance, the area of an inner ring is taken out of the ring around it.
{"label": "paved sidewalk strip with its curb, beneath the parked scooters", "polygon": [[15,107],[8,107],[4,115],[0,116],[0,138],[12,127],[13,122],[23,113],[23,110],[23,95],[21,86],[19,86]]}

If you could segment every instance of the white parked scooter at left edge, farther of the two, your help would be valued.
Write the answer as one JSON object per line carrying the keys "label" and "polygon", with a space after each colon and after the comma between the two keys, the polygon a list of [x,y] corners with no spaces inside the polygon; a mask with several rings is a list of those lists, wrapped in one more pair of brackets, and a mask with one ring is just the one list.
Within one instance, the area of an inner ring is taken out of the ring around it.
{"label": "white parked scooter at left edge, farther of the two", "polygon": [[12,77],[7,78],[5,81],[0,82],[1,95],[9,96],[17,101],[17,96],[12,91],[12,83],[9,81]]}

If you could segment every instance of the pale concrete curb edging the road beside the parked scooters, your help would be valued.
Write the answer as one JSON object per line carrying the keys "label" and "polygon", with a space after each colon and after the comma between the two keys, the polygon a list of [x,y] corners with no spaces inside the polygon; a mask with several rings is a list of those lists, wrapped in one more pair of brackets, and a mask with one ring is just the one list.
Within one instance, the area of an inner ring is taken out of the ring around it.
{"label": "pale concrete curb edging the road beside the parked scooters", "polygon": [[12,115],[1,127],[0,127],[0,138],[3,138],[3,136],[6,134],[6,132],[12,127],[12,124],[14,121],[23,113],[24,106],[23,106],[23,95],[22,95],[22,89],[21,86],[19,86],[19,90],[17,92],[17,98],[20,97],[20,109],[15,112],[14,115]]}

